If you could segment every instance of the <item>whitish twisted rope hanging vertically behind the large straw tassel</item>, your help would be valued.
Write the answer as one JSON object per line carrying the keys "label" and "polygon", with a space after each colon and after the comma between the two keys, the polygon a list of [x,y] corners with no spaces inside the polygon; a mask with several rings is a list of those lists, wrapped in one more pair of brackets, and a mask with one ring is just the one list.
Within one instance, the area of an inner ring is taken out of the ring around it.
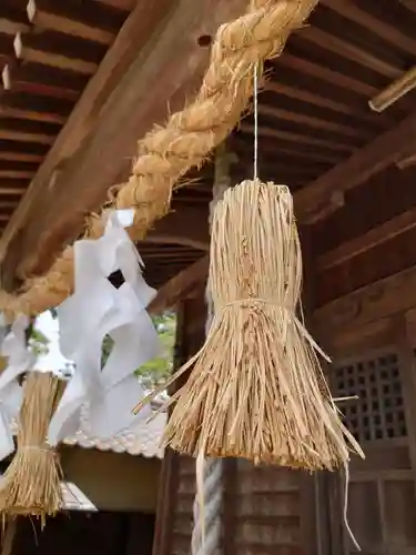
{"label": "whitish twisted rope hanging vertically behind the large straw tassel", "polygon": [[[232,154],[225,148],[219,149],[215,155],[215,183],[213,199],[210,202],[210,230],[216,203],[223,198],[230,186],[230,163]],[[209,284],[205,291],[206,325],[205,334],[214,319],[214,305]],[[222,476],[223,462],[221,458],[207,458],[203,462],[203,492],[202,500],[197,493],[193,505],[194,527],[192,531],[192,555],[216,555],[221,542],[221,506],[222,506]],[[201,511],[203,501],[203,511]],[[203,522],[202,522],[203,519]]]}

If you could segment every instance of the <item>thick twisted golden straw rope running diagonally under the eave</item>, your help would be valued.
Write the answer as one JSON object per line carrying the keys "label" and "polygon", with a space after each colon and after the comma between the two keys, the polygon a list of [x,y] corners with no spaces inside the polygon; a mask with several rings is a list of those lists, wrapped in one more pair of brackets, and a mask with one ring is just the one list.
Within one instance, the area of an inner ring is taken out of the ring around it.
{"label": "thick twisted golden straw rope running diagonally under the eave", "polygon": [[[222,26],[212,47],[202,87],[193,103],[155,128],[139,142],[138,159],[128,183],[113,188],[108,208],[135,209],[133,240],[142,239],[155,220],[169,211],[177,181],[237,124],[253,92],[257,63],[278,56],[292,31],[300,29],[318,0],[251,0],[247,12]],[[90,236],[102,233],[100,219]],[[0,291],[0,310],[11,320],[19,313],[39,314],[71,294],[73,249],[57,259],[50,272],[27,283],[12,296]]]}

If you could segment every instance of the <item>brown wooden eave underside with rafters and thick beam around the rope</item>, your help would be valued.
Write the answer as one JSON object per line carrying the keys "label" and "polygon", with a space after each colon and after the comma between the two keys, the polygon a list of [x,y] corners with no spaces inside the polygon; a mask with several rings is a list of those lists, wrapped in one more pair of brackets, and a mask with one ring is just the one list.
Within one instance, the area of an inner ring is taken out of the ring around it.
{"label": "brown wooden eave underside with rafters and thick beam around the rope", "polygon": [[[115,0],[106,1],[105,10],[111,4],[125,14],[109,46],[106,26],[87,16],[77,16],[80,24],[65,34],[64,18],[74,17],[70,4],[77,2],[69,2],[61,13],[51,2],[30,3],[43,10],[38,24],[44,28],[37,33],[37,18],[30,17],[28,29],[0,36],[0,54],[7,60],[3,82],[9,83],[4,108],[0,98],[0,185],[8,191],[0,196],[0,214],[9,216],[13,210],[2,209],[2,200],[19,200],[20,193],[10,195],[12,183],[22,191],[31,182],[0,240],[3,268],[18,276],[44,271],[62,244],[80,233],[85,212],[95,210],[108,189],[128,175],[138,138],[163,122],[168,107],[181,109],[197,89],[209,53],[199,37],[212,34],[245,6],[243,0],[216,0],[214,10],[207,0],[140,0],[134,9],[129,7],[129,16]],[[100,2],[83,6],[89,3]],[[260,95],[260,174],[287,183],[294,193],[297,219],[312,238],[316,304],[325,306],[416,263],[416,251],[406,248],[416,238],[415,170],[412,162],[399,169],[416,148],[416,92],[382,113],[368,105],[416,67],[416,8],[398,0],[322,0],[310,23],[267,68],[270,79]],[[100,24],[101,39],[95,31],[87,33],[85,26]],[[139,37],[139,26],[146,34]],[[89,48],[71,54],[64,42],[41,40],[42,34],[57,33],[67,44],[81,41]],[[48,44],[61,50],[45,52]],[[22,61],[22,52],[32,60]],[[53,65],[54,56],[70,60],[72,80],[60,79],[70,71],[61,62]],[[80,61],[85,64],[79,65],[75,79],[73,67]],[[50,105],[42,105],[37,100],[42,94],[34,94],[41,67],[43,75],[53,68],[50,81],[39,83],[44,95],[49,87]],[[30,117],[19,118],[19,110]],[[250,178],[251,115],[229,144],[239,158],[233,180]],[[156,286],[207,250],[212,164],[190,176],[199,183],[174,194],[173,212],[140,244],[149,280]]]}

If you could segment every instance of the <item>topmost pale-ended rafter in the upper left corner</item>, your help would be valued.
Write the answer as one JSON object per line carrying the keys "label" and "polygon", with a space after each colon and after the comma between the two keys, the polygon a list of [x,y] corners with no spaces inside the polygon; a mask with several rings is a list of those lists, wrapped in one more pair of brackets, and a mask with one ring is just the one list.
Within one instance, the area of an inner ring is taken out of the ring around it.
{"label": "topmost pale-ended rafter in the upper left corner", "polygon": [[29,0],[28,17],[31,23],[51,31],[111,44],[123,24],[125,12],[110,6],[74,0],[57,3],[51,0]]}

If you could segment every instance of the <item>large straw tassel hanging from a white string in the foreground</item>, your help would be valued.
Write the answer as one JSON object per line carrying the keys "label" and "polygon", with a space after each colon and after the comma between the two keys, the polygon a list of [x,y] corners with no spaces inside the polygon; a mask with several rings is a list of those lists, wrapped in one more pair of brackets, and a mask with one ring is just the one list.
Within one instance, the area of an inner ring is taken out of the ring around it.
{"label": "large straw tassel hanging from a white string in the foreground", "polygon": [[[302,254],[287,186],[245,181],[213,221],[214,320],[165,430],[174,450],[334,470],[364,454],[341,422],[300,305]],[[144,400],[145,402],[145,400]]]}

